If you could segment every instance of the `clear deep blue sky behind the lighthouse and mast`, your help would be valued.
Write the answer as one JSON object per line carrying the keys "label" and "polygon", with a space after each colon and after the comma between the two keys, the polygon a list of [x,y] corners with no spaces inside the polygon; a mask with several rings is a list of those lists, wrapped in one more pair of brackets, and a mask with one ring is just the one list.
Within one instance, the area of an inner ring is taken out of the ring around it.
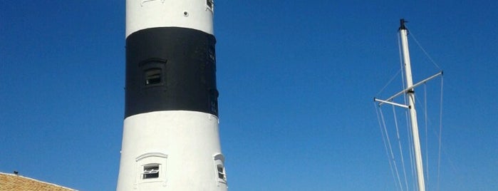
{"label": "clear deep blue sky behind the lighthouse and mast", "polygon": [[[229,190],[397,189],[373,96],[400,18],[445,71],[441,190],[498,190],[496,1],[215,3]],[[0,172],[115,190],[124,74],[125,1],[1,1]]]}

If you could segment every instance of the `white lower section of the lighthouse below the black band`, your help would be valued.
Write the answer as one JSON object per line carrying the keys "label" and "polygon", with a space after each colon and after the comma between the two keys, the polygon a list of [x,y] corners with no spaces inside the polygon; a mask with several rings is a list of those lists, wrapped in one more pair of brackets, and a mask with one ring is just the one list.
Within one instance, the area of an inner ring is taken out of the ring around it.
{"label": "white lower section of the lighthouse below the black band", "polygon": [[[215,115],[168,110],[130,116],[117,190],[227,190],[218,177],[220,153]],[[141,165],[150,163],[161,165],[160,175],[144,180]]]}

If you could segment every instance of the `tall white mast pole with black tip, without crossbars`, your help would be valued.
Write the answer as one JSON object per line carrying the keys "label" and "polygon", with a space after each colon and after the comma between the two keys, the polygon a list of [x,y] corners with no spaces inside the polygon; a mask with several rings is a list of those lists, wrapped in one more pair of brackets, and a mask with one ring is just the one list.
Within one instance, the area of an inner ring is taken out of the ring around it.
{"label": "tall white mast pole with black tip, without crossbars", "polygon": [[[400,20],[401,49],[403,51],[403,63],[405,66],[406,86],[412,87],[412,68],[410,66],[410,53],[408,51],[408,29],[405,27],[405,19]],[[415,167],[417,168],[418,190],[425,191],[424,169],[422,166],[422,153],[420,151],[420,138],[418,135],[417,111],[415,110],[415,91],[409,89],[408,105],[410,106],[410,122],[412,125],[413,149],[415,151]]]}

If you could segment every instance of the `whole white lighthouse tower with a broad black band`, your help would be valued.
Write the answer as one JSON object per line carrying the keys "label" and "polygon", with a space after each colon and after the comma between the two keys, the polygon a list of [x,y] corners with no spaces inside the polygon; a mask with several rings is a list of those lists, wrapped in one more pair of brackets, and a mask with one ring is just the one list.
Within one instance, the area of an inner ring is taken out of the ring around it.
{"label": "whole white lighthouse tower with a broad black band", "polygon": [[213,0],[127,0],[118,191],[227,190]]}

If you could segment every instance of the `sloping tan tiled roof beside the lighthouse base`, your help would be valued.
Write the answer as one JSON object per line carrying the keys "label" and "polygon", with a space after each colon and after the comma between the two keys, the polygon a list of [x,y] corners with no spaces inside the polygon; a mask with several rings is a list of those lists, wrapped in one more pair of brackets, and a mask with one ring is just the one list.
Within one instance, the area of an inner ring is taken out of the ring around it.
{"label": "sloping tan tiled roof beside the lighthouse base", "polygon": [[68,187],[54,185],[40,180],[34,180],[20,175],[0,172],[0,191],[68,191],[74,190]]}

